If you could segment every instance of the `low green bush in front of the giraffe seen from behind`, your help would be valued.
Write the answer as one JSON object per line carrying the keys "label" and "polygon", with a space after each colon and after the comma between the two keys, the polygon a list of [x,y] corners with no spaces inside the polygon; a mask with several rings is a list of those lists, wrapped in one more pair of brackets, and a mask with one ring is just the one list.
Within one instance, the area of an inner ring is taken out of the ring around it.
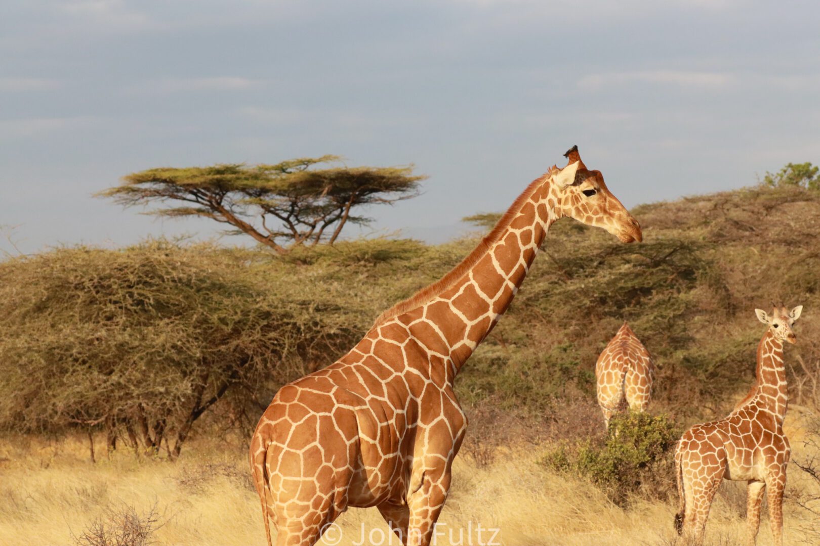
{"label": "low green bush in front of the giraffe seen from behind", "polygon": [[616,503],[626,503],[639,491],[663,498],[668,484],[662,476],[671,467],[679,435],[666,415],[627,412],[613,417],[604,440],[559,445],[541,462],[552,470],[585,477]]}

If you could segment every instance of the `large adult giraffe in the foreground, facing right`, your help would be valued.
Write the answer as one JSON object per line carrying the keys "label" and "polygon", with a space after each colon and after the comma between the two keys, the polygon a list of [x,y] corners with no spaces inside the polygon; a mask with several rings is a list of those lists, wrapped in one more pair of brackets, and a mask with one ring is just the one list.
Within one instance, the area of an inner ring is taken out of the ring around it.
{"label": "large adult giraffe in the foreground, facing right", "polygon": [[310,546],[348,507],[376,506],[404,544],[430,544],[467,426],[453,393],[462,364],[507,309],[563,216],[623,242],[640,225],[577,147],[518,196],[440,281],[381,314],[353,350],[283,386],[250,459],[268,544]]}

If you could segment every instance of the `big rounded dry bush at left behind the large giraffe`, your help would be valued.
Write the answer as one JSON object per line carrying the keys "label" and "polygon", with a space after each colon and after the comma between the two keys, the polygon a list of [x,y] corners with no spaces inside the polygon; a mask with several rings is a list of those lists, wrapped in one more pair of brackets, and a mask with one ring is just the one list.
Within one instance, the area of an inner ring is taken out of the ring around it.
{"label": "big rounded dry bush at left behind the large giraffe", "polygon": [[0,429],[105,427],[175,458],[220,399],[270,399],[361,333],[355,305],[269,269],[169,241],[0,262]]}

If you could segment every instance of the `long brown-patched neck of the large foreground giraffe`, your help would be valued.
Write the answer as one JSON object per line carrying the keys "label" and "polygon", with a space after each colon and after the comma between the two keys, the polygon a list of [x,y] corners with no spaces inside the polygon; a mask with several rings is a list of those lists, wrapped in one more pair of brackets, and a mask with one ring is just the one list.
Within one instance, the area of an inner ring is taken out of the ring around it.
{"label": "long brown-patched neck of the large foreground giraffe", "polygon": [[558,204],[549,174],[531,183],[442,286],[431,285],[385,312],[375,330],[408,327],[426,352],[417,364],[440,363],[452,381],[512,302],[549,226],[561,216]]}

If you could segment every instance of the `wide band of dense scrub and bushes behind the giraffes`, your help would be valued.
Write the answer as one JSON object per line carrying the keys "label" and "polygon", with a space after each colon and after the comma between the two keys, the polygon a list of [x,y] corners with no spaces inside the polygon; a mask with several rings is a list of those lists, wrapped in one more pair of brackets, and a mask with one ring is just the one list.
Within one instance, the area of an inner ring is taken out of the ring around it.
{"label": "wide band of dense scrub and bushes behind the giraffes", "polygon": [[[595,359],[624,320],[658,363],[655,404],[680,417],[720,413],[750,384],[755,307],[804,305],[787,359],[820,359],[818,192],[761,186],[633,213],[642,244],[553,226],[458,379],[468,411],[549,422],[567,399],[592,399]],[[337,241],[277,255],[146,241],[5,259],[0,429],[81,429],[175,458],[199,423],[252,427],[285,381],[339,358],[475,244]]]}

